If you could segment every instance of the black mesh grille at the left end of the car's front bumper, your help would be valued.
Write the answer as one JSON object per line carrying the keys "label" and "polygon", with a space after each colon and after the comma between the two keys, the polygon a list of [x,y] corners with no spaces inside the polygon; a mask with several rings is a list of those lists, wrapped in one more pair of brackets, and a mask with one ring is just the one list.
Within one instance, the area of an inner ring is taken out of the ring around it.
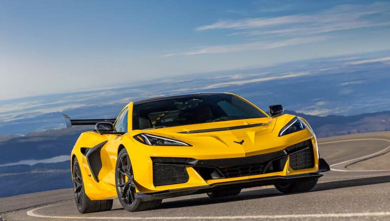
{"label": "black mesh grille at the left end of the car's front bumper", "polygon": [[187,158],[152,158],[153,184],[163,186],[186,183],[189,179],[185,166],[159,163],[184,163]]}

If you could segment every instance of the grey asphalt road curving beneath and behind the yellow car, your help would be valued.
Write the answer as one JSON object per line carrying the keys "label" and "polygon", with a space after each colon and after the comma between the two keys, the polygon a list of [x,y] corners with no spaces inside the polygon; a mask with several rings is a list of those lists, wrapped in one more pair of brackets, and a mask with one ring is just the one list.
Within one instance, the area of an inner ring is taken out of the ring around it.
{"label": "grey asphalt road curving beneath and behind the yellow car", "polygon": [[332,171],[305,193],[273,186],[238,196],[206,194],[164,200],[151,211],[130,213],[114,201],[111,211],[80,214],[72,190],[0,198],[3,220],[390,220],[390,132],[320,139]]}

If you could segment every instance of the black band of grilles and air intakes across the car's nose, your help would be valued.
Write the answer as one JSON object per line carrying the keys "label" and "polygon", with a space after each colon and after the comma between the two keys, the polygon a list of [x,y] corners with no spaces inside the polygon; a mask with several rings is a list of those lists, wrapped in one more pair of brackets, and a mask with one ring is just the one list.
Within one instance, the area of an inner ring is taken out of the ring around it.
{"label": "black band of grilles and air intakes across the car's nose", "polygon": [[250,157],[209,160],[152,157],[153,184],[154,186],[165,186],[187,183],[189,175],[186,167],[192,168],[205,181],[282,172],[286,167],[287,159],[288,168],[293,170],[314,168],[316,157],[311,140],[288,146],[276,152]]}

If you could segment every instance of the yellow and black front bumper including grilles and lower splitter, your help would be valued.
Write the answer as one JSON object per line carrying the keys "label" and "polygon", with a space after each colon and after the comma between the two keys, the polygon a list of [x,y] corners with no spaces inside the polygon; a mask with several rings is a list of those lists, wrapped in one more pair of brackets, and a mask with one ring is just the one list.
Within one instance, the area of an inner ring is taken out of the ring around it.
{"label": "yellow and black front bumper including grilles and lower splitter", "polygon": [[139,184],[136,197],[143,201],[319,178],[320,172],[330,169],[319,158],[313,138],[250,157],[196,160],[153,156],[149,159],[153,186],[145,188],[136,182]]}

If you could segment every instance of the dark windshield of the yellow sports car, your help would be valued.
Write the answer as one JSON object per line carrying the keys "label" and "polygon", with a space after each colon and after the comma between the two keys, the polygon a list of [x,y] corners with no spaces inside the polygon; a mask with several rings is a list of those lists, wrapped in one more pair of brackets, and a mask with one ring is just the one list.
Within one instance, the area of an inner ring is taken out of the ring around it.
{"label": "dark windshield of the yellow sports car", "polygon": [[230,94],[186,95],[135,103],[133,129],[266,117]]}

